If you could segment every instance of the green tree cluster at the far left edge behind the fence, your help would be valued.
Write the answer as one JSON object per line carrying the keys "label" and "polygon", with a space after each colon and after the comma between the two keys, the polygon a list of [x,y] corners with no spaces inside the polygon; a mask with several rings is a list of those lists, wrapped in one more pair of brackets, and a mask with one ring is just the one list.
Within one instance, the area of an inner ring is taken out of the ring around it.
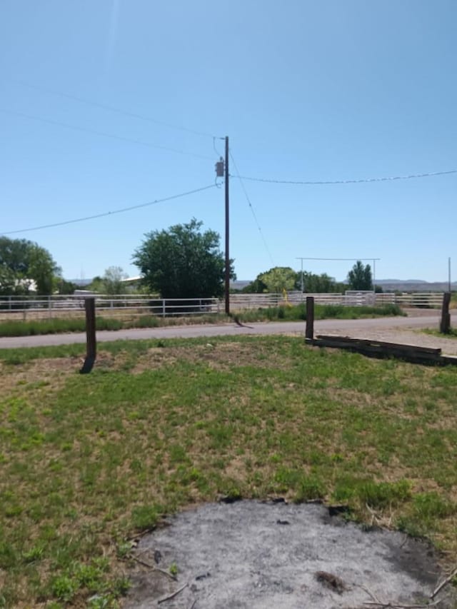
{"label": "green tree cluster at the far left edge behind the fence", "polygon": [[49,251],[33,241],[0,237],[0,293],[51,294],[57,287],[61,268]]}

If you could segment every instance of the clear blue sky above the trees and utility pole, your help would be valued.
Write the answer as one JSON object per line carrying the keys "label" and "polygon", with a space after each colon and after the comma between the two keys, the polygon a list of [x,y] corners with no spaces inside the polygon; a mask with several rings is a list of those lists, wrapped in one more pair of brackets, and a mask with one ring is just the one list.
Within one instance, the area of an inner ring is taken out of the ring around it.
{"label": "clear blue sky above the trees and utility pole", "polygon": [[[455,0],[0,0],[0,233],[47,248],[66,278],[136,275],[144,233],[193,216],[223,249],[224,188],[11,233],[214,184],[212,135],[254,178],[457,169],[456,26]],[[449,256],[457,269],[457,173],[243,183],[239,279],[298,256],[381,258],[378,278],[445,280]],[[304,262],[338,280],[350,266]]]}

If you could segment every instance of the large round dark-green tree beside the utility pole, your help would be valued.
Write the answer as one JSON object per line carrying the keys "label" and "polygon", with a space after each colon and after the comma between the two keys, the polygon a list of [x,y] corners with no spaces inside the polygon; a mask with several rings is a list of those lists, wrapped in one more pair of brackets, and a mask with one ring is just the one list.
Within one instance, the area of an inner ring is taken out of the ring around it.
{"label": "large round dark-green tree beside the utility pole", "polygon": [[[195,218],[168,230],[146,233],[133,261],[142,282],[162,298],[201,298],[224,293],[225,261],[219,251],[219,234],[201,232]],[[233,261],[230,268],[231,278]]]}

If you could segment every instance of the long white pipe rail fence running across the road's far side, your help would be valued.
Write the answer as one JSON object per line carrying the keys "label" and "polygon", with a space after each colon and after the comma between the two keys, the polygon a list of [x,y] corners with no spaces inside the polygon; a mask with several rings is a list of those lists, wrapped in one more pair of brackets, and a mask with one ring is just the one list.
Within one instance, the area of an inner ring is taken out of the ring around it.
{"label": "long white pipe rail fence running across the road's far side", "polygon": [[[52,318],[62,316],[84,316],[84,298],[94,296],[96,311],[107,316],[134,316],[149,314],[154,316],[194,316],[205,313],[221,313],[224,302],[219,298],[155,298],[148,295],[121,294],[97,296],[81,294],[76,296],[0,296],[0,319],[12,318]],[[423,293],[380,293],[346,292],[283,294],[231,294],[231,311],[267,308],[281,304],[298,304],[314,296],[316,304],[337,304],[344,306],[381,305],[395,303],[400,306],[438,308],[443,302],[442,292]]]}

